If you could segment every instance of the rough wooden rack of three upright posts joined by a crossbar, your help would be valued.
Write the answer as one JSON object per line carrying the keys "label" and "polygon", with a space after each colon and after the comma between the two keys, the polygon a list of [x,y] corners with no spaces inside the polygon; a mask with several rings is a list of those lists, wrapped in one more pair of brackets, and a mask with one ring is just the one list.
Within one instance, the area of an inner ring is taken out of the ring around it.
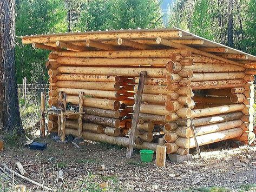
{"label": "rough wooden rack of three upright posts joined by a crossbar", "polygon": [[45,137],[45,114],[55,115],[58,117],[58,136],[61,141],[65,141],[65,121],[68,115],[78,115],[78,135],[82,138],[83,134],[83,92],[79,92],[78,98],[78,112],[67,110],[66,94],[63,91],[59,92],[58,95],[58,109],[60,110],[45,110],[45,93],[41,93],[41,108],[40,108],[40,135],[42,138]]}

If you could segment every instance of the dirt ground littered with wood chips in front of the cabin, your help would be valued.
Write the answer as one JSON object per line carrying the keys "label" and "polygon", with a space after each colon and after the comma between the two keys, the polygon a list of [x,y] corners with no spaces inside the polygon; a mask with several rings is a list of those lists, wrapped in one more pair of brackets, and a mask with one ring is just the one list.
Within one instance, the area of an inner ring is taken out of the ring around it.
{"label": "dirt ground littered with wood chips in front of the cabin", "polygon": [[[18,171],[16,162],[20,161],[29,178],[57,191],[256,190],[256,147],[229,148],[222,142],[217,148],[202,149],[202,160],[194,155],[192,161],[167,161],[166,168],[156,168],[154,161],[142,163],[137,150],[133,158],[127,160],[126,148],[106,143],[88,141],[75,148],[71,143],[63,144],[50,138],[44,142],[48,147],[43,151],[16,147],[5,149],[0,156],[15,171]],[[104,164],[106,170],[99,171],[100,164]],[[57,181],[60,169],[63,170],[63,182]],[[8,182],[11,183],[5,181]],[[16,177],[15,182],[32,191],[43,191]],[[205,190],[212,186],[224,189]],[[8,187],[3,187],[2,183],[2,190],[4,188]]]}

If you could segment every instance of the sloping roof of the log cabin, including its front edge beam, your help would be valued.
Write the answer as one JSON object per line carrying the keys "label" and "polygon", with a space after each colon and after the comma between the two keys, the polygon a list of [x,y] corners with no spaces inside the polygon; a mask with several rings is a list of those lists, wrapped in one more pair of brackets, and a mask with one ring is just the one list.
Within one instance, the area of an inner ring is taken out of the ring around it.
{"label": "sloping roof of the log cabin, including its front edge beam", "polygon": [[[114,40],[119,37],[135,41],[138,39],[155,40],[157,37],[167,38],[169,40],[178,41],[178,43],[180,42],[181,44],[186,44],[188,47],[216,54],[218,56],[230,59],[235,62],[241,61],[241,63],[251,65],[250,67],[256,67],[256,56],[247,54],[246,52],[242,52],[213,41],[209,41],[208,39],[191,34],[190,32],[181,30],[179,28],[70,32],[64,34],[23,36],[21,38],[24,44],[42,43],[45,45],[49,45],[50,43],[56,43],[56,41],[72,43],[86,41],[86,39],[91,39],[95,41],[107,41]],[[188,40],[192,41],[188,42]]]}

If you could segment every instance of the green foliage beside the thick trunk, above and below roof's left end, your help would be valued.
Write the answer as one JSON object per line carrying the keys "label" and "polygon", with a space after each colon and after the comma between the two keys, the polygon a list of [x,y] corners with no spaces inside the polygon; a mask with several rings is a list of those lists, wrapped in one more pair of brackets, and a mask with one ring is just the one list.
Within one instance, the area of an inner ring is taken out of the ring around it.
{"label": "green foliage beside the thick trunk, above and below roof's left end", "polygon": [[[62,0],[21,0],[16,5],[16,36],[67,31],[67,11]],[[16,41],[15,56],[17,81],[27,77],[29,82],[43,83],[47,75],[43,66],[49,51],[32,50],[31,46]]]}

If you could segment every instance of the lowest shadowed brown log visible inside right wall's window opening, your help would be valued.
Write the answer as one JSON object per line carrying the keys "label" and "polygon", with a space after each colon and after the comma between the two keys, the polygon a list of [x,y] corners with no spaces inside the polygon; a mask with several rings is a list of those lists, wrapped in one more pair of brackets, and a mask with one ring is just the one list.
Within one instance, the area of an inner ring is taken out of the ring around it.
{"label": "lowest shadowed brown log visible inside right wall's window opening", "polygon": [[229,97],[201,97],[194,96],[193,100],[196,103],[212,103],[212,104],[232,104]]}

